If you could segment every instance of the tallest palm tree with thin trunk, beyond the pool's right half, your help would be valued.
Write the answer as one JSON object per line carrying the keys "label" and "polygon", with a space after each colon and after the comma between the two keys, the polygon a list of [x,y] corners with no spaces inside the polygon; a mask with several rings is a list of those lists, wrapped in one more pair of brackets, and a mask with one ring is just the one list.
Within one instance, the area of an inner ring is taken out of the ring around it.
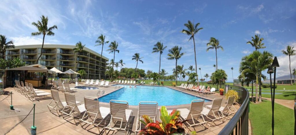
{"label": "tallest palm tree with thin trunk, beyond the pool's right half", "polygon": [[[194,40],[194,35],[197,34],[198,31],[202,30],[203,28],[197,28],[200,25],[200,23],[197,23],[194,25],[194,20],[193,23],[188,20],[188,23],[185,23],[184,26],[186,27],[186,30],[182,30],[182,33],[185,33],[186,35],[189,35],[190,38],[189,40],[193,39],[193,46],[194,46],[194,60],[195,60],[195,73],[197,74],[197,63],[196,63],[196,51],[195,51],[195,40]],[[188,41],[189,41],[188,40]],[[196,76],[197,79],[197,84],[198,82],[198,76]]]}

